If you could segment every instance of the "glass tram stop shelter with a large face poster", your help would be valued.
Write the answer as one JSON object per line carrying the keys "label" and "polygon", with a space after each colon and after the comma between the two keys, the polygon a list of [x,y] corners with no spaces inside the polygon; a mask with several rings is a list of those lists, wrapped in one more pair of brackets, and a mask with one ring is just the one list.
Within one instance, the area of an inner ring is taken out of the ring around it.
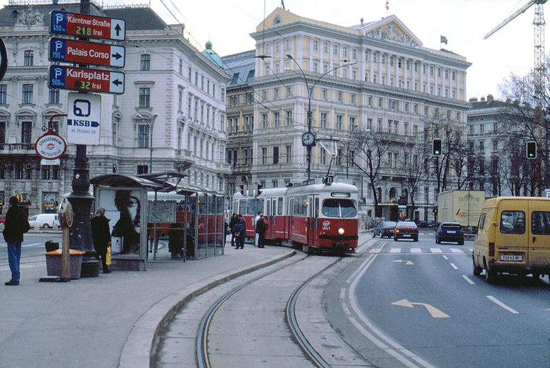
{"label": "glass tram stop shelter with a large face poster", "polygon": [[185,184],[184,177],[113,173],[90,180],[94,207],[104,208],[110,219],[111,269],[145,270],[148,261],[223,255],[223,193]]}

